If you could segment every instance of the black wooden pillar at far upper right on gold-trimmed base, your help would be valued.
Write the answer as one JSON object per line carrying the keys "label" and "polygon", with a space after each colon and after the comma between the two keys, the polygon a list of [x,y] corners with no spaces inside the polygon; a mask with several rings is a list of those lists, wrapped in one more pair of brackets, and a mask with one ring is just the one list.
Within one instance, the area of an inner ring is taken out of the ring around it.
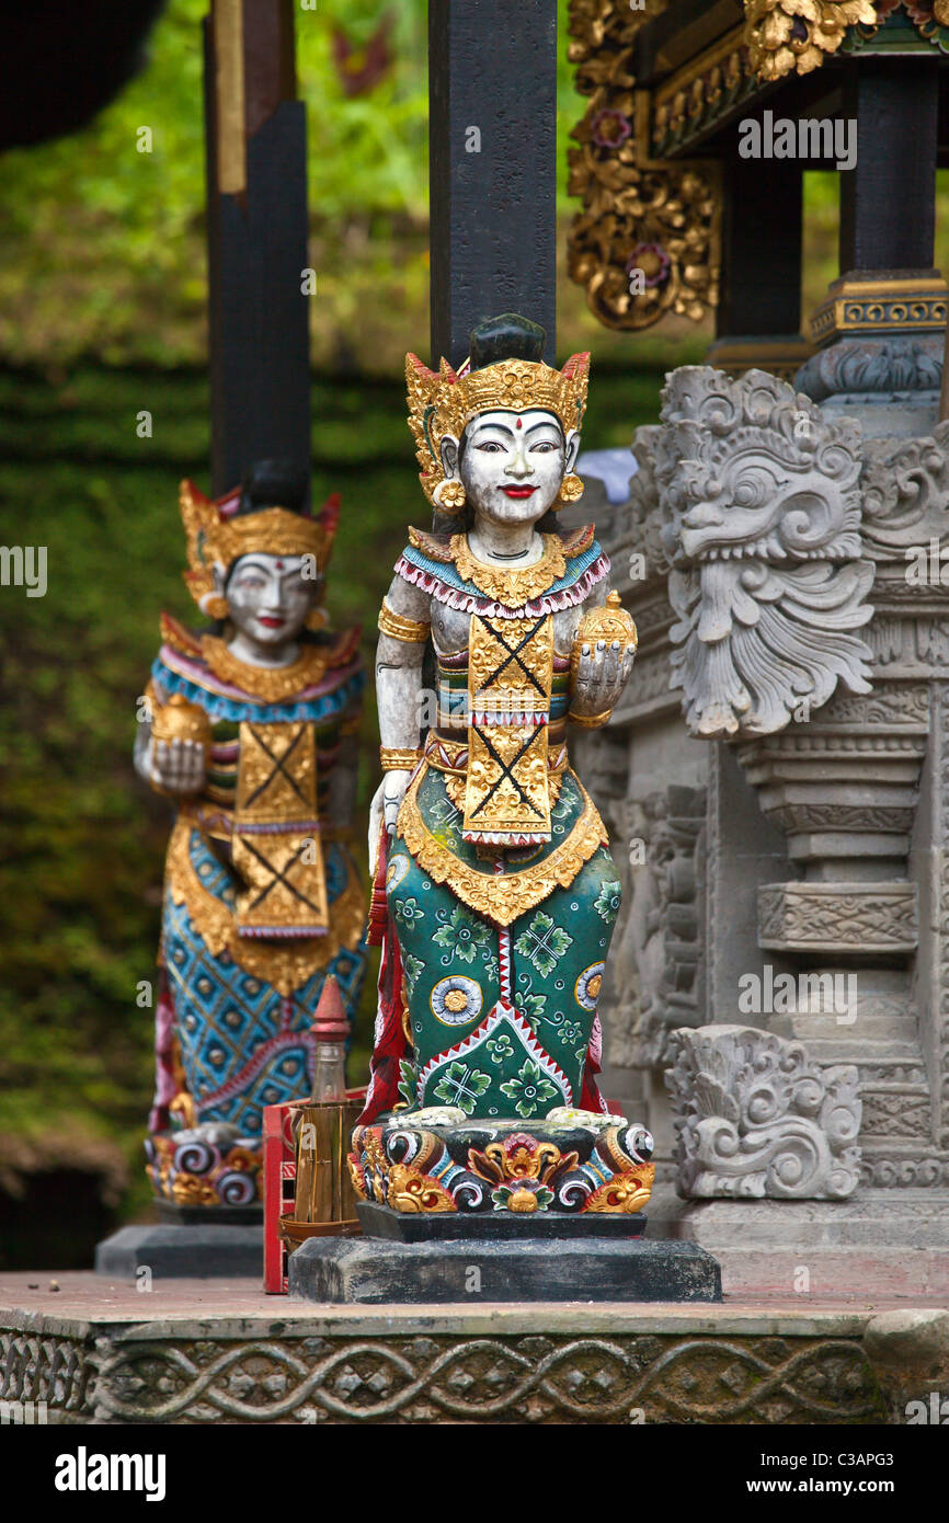
{"label": "black wooden pillar at far upper right on gold-trimmed base", "polygon": [[938,64],[858,58],[844,93],[856,166],[841,175],[841,274],[929,270],[935,233]]}

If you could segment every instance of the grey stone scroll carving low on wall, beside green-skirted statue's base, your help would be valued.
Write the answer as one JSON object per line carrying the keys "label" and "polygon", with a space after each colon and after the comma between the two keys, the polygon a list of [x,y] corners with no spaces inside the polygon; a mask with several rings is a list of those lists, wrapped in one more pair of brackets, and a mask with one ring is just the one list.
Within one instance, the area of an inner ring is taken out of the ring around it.
{"label": "grey stone scroll carving low on wall, beside green-skirted statue's base", "polygon": [[666,1072],[684,1197],[842,1200],[858,1186],[853,1065],[818,1068],[800,1042],[751,1027],[673,1033]]}

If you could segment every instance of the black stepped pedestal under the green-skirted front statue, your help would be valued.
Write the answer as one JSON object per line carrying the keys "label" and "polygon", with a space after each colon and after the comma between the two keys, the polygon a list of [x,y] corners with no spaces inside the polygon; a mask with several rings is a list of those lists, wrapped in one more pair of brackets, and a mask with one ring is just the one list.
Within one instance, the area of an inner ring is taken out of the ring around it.
{"label": "black stepped pedestal under the green-skirted front statue", "polygon": [[[583,1215],[548,1217],[541,1237],[539,1212],[527,1221],[509,1212],[393,1221],[402,1214],[359,1206],[366,1232],[376,1231],[378,1212],[384,1212],[379,1226],[385,1237],[302,1243],[289,1256],[289,1295],[363,1305],[722,1299],[722,1275],[711,1253],[698,1243],[637,1235],[643,1217],[597,1214],[593,1231]],[[442,1235],[446,1223],[454,1237]],[[422,1240],[405,1240],[413,1226],[419,1237],[425,1234]]]}

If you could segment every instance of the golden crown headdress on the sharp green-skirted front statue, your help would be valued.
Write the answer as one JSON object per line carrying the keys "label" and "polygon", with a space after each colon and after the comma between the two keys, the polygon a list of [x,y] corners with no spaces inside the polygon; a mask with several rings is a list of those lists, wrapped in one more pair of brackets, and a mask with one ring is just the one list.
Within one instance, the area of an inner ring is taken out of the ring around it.
{"label": "golden crown headdress on the sharp green-skirted front statue", "polygon": [[[542,335],[542,329],[538,332]],[[446,434],[460,439],[477,413],[495,408],[513,413],[542,408],[553,413],[568,434],[583,422],[588,379],[588,353],[571,355],[562,370],[542,359],[498,359],[477,370],[471,370],[466,359],[460,370],[452,370],[442,359],[439,372],[430,370],[417,355],[407,355],[408,426],[422,466],[419,481],[428,501],[436,503],[436,492],[445,481],[442,440]]]}

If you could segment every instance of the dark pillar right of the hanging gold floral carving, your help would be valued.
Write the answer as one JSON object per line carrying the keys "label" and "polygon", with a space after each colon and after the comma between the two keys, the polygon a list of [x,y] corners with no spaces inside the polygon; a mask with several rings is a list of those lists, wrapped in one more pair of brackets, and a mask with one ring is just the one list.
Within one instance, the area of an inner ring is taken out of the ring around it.
{"label": "dark pillar right of the hanging gold floral carving", "polygon": [[719,337],[795,335],[801,326],[803,175],[795,160],[724,164]]}

